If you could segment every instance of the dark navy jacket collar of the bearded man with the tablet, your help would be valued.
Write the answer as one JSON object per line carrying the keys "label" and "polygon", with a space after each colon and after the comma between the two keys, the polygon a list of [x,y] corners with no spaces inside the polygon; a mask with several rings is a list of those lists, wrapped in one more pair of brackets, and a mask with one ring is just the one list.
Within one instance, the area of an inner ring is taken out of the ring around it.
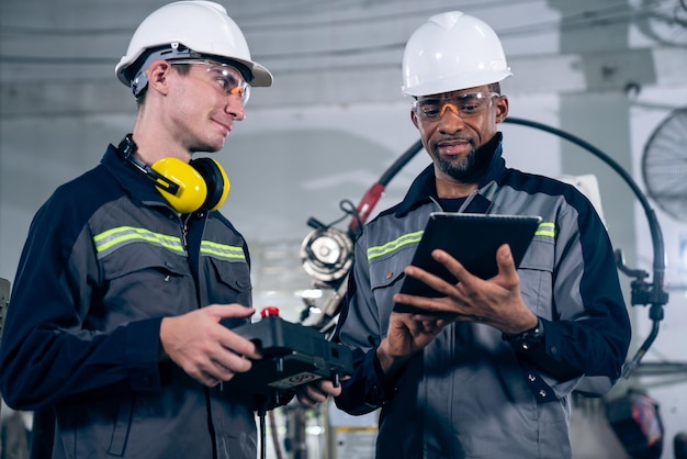
{"label": "dark navy jacket collar of the bearded man with the tablet", "polygon": [[[477,155],[489,155],[492,159],[489,160],[485,173],[477,183],[477,195],[471,200],[469,205],[470,212],[484,213],[491,206],[491,202],[480,194],[480,190],[505,172],[506,161],[502,157],[502,152],[503,134],[500,132],[497,132],[489,142],[477,149]],[[430,164],[420,172],[419,176],[415,178],[405,198],[396,209],[395,215],[401,217],[410,210],[427,203],[430,200],[438,199],[435,166],[433,164]]]}

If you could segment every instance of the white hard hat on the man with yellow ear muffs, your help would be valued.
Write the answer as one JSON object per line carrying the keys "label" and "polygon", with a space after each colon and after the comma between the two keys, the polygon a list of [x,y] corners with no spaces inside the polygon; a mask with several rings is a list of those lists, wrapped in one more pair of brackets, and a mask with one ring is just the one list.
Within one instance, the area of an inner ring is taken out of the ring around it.
{"label": "white hard hat on the man with yellow ear muffs", "polygon": [[134,32],[115,74],[138,94],[153,60],[202,57],[243,64],[251,86],[272,85],[272,75],[250,58],[246,38],[226,9],[203,0],[177,1],[150,13]]}

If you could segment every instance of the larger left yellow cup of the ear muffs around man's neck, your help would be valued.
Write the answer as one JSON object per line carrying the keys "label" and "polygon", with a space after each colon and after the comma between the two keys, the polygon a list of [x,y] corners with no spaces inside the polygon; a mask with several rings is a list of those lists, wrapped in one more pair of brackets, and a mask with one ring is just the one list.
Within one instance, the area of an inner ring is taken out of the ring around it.
{"label": "larger left yellow cup of the ear muffs around man's neck", "polygon": [[173,190],[165,180],[155,180],[160,193],[177,212],[191,213],[201,209],[207,198],[207,184],[195,168],[178,158],[158,159],[150,168],[178,187]]}

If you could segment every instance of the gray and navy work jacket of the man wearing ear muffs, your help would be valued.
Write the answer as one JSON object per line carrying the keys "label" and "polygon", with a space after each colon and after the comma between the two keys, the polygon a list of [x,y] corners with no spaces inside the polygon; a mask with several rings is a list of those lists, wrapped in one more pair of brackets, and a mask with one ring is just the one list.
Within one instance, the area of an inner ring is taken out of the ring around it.
{"label": "gray and navy work jacket of the man wearing ear muffs", "polygon": [[251,396],[158,359],[162,317],[235,302],[251,305],[243,236],[216,211],[178,215],[110,146],[32,223],[1,393],[52,418],[53,458],[255,459]]}

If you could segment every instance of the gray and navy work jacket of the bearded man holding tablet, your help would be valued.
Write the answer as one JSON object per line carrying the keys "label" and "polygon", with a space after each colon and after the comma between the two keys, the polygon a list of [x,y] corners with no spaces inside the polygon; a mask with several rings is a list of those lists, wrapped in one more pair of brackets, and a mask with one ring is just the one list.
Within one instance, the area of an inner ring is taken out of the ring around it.
{"label": "gray and navy work jacket of the bearded man holding tablet", "polygon": [[571,392],[592,380],[599,395],[620,376],[630,323],[604,224],[574,187],[506,168],[497,135],[461,212],[542,216],[518,269],[522,299],[544,325],[542,356],[516,352],[491,326],[454,323],[384,384],[374,351],[418,240],[407,236],[441,210],[428,167],[357,240],[336,335],[356,356],[337,405],[381,407],[378,458],[571,458]]}

